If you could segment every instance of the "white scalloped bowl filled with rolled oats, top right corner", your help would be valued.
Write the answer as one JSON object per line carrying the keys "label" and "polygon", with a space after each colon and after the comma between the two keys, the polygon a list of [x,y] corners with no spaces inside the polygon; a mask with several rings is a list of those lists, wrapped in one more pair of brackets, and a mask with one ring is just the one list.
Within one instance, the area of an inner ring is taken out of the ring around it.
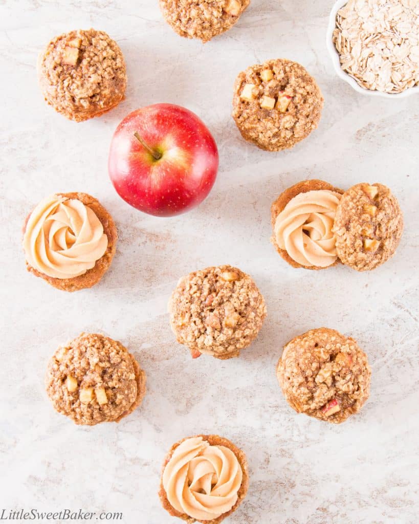
{"label": "white scalloped bowl filled with rolled oats, top right corner", "polygon": [[338,0],[326,43],[337,75],[359,93],[419,93],[419,0]]}

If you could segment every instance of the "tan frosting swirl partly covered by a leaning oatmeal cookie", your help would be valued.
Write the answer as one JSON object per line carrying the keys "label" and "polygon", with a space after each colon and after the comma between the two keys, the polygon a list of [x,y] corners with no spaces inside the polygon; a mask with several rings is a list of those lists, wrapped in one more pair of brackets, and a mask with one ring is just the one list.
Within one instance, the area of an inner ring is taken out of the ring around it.
{"label": "tan frosting swirl partly covered by a leaning oatmeal cookie", "polygon": [[302,266],[327,267],[337,259],[332,233],[341,195],[326,189],[299,193],[275,221],[278,246]]}

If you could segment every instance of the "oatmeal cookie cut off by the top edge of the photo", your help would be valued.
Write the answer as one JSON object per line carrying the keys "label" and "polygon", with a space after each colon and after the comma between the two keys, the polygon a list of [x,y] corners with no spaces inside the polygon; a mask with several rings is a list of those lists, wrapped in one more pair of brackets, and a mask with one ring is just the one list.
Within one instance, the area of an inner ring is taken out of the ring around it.
{"label": "oatmeal cookie cut off by the top edge of the photo", "polygon": [[159,0],[159,4],[178,35],[207,42],[233,27],[250,0]]}

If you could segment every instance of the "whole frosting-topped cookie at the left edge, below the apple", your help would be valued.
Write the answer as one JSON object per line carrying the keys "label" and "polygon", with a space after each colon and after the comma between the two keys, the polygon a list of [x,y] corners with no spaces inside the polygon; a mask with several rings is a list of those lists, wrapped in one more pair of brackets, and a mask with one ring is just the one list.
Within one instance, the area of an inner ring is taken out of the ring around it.
{"label": "whole frosting-topped cookie at the left edge, below the apple", "polygon": [[111,265],[116,241],[112,216],[93,196],[53,194],[26,219],[26,266],[63,291],[90,288]]}

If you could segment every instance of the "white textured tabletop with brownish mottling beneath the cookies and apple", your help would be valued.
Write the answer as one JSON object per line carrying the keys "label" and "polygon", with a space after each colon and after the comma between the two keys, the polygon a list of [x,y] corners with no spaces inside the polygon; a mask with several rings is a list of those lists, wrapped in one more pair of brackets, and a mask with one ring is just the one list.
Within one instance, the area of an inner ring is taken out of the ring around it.
{"label": "white textured tabletop with brownish mottling beneath the cookies and apple", "polygon": [[[157,0],[2,0],[2,360],[0,506],[123,511],[125,523],[176,522],[160,507],[160,465],[183,436],[215,432],[245,450],[247,499],[237,524],[416,523],[419,513],[417,326],[417,97],[375,100],[337,79],[325,46],[333,2],[253,0],[226,35],[202,46],[163,23]],[[54,113],[36,82],[38,52],[73,28],[106,30],[122,48],[127,99],[75,124]],[[230,117],[236,74],[285,57],[325,97],[316,132],[278,154],[246,144]],[[158,219],[120,200],[107,176],[109,140],[138,106],[174,102],[199,114],[220,152],[218,180],[196,210]],[[370,273],[295,270],[269,243],[270,204],[293,183],[341,188],[382,182],[399,198],[405,233],[396,256]],[[20,229],[56,191],[93,194],[113,214],[113,266],[92,290],[63,293],[25,270]],[[239,359],[192,361],[168,325],[178,278],[208,265],[255,278],[268,318]],[[316,326],[354,336],[372,366],[371,397],[340,426],[297,416],[274,368],[282,345]],[[81,331],[122,341],[148,374],[140,409],[119,424],[76,427],[43,389],[47,360]]]}

